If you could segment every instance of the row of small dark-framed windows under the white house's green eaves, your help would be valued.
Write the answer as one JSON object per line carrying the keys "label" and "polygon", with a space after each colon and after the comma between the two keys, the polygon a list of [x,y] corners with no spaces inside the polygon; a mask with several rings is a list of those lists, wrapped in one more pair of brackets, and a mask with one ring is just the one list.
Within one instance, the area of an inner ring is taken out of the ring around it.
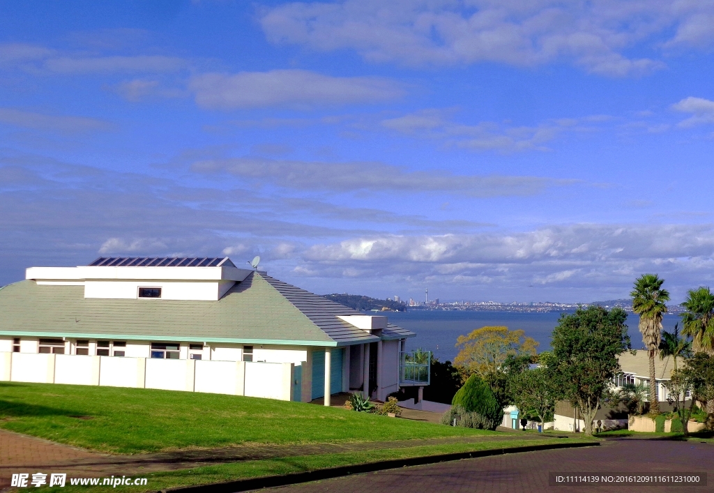
{"label": "row of small dark-framed windows under the white house's green eaves", "polygon": [[[64,354],[64,341],[62,339],[40,339],[39,352],[42,354]],[[80,356],[89,355],[89,340],[77,339],[75,342],[75,354]],[[97,356],[117,356],[126,355],[126,341],[97,341],[96,355]],[[13,352],[20,352],[20,338],[13,339]],[[181,351],[181,344],[178,342],[152,342],[151,357],[161,359],[178,359]],[[203,352],[203,344],[188,344],[189,359],[201,359]],[[243,346],[243,361],[253,361],[253,347]]]}

